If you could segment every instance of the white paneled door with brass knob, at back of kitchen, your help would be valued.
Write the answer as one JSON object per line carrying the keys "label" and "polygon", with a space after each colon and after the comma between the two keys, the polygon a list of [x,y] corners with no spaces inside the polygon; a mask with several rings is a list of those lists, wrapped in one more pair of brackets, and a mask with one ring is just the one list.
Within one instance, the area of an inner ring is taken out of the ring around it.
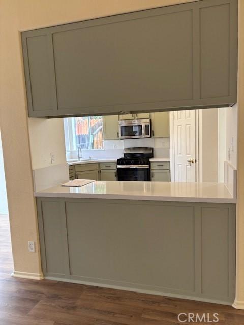
{"label": "white paneled door with brass knob, at back of kitchen", "polygon": [[175,182],[196,182],[196,111],[174,112]]}

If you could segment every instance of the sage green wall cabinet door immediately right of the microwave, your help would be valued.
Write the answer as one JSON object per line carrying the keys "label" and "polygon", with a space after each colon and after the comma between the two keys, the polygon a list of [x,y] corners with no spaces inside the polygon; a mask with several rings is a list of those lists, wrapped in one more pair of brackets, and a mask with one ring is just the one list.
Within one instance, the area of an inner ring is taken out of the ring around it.
{"label": "sage green wall cabinet door immediately right of the microwave", "polygon": [[154,138],[169,137],[169,112],[153,113],[152,128]]}

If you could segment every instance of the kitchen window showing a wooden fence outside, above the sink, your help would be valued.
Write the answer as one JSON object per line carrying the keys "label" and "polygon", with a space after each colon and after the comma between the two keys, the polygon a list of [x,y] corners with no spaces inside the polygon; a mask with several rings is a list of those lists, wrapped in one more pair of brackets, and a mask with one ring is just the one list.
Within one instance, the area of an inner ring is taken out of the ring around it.
{"label": "kitchen window showing a wooden fence outside, above the sink", "polygon": [[66,151],[103,149],[102,116],[64,118]]}

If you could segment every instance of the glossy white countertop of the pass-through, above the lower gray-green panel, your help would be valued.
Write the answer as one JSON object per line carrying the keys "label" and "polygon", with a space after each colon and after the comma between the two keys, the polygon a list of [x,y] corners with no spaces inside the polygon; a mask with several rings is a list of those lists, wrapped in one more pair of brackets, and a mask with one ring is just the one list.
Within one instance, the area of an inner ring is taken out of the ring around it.
{"label": "glossy white countertop of the pass-through, above the lower gray-green panel", "polygon": [[35,196],[236,203],[224,183],[95,181],[82,187],[55,186]]}

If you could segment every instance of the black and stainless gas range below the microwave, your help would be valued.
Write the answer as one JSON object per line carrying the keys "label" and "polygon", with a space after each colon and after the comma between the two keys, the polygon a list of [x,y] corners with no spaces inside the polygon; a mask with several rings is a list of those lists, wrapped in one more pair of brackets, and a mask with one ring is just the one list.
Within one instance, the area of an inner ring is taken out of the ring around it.
{"label": "black and stainless gas range below the microwave", "polygon": [[124,157],[117,159],[118,180],[150,181],[149,159],[153,156],[153,148],[125,148]]}

